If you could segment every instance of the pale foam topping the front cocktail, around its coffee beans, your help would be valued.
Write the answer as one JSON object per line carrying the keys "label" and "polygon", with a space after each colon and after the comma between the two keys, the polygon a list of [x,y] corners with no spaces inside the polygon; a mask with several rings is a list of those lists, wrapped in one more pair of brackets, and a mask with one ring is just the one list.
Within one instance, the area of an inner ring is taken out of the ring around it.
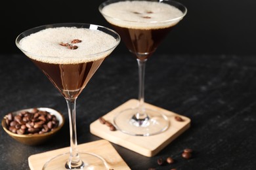
{"label": "pale foam topping the front cocktail, around its coffee beans", "polygon": [[[72,44],[74,39],[81,42]],[[68,44],[63,46],[62,44]],[[24,37],[20,49],[30,58],[44,63],[84,63],[108,56],[118,42],[102,31],[76,28],[54,27]],[[77,46],[72,50],[68,46]]]}

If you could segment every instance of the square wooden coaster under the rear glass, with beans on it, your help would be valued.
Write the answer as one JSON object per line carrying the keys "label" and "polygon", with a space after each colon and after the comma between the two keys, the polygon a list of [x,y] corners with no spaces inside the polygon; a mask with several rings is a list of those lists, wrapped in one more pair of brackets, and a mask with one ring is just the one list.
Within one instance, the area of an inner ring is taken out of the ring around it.
{"label": "square wooden coaster under the rear glass, with beans on it", "polygon": [[[102,117],[113,124],[113,118],[116,113],[123,109],[136,106],[137,102],[137,99],[130,99],[129,101],[123,103],[123,105],[120,105]],[[102,139],[106,139],[112,143],[123,146],[129,150],[133,150],[134,152],[144,156],[152,157],[158,154],[158,152],[167,146],[167,144],[171,143],[171,141],[176,139],[190,127],[190,118],[187,118],[186,116],[176,114],[175,112],[171,112],[169,110],[161,109],[160,107],[156,107],[148,103],[145,103],[145,107],[163,112],[163,114],[169,118],[169,128],[158,135],[148,137],[133,136],[122,133],[121,131],[110,131],[106,125],[101,124],[99,120],[95,120],[95,122],[91,123],[90,125],[90,131],[93,135],[101,137]],[[175,116],[180,116],[183,121],[178,122],[175,120]]]}

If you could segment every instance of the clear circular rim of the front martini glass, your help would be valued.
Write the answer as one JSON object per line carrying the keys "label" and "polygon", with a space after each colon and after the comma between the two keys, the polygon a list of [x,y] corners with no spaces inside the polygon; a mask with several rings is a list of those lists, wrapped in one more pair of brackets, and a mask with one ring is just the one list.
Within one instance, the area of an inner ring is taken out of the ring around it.
{"label": "clear circular rim of the front martini glass", "polygon": [[[76,26],[75,26],[76,25]],[[78,28],[86,28],[86,29],[93,29],[95,31],[103,31],[100,29],[105,29],[108,30],[109,33],[107,33],[108,35],[110,35],[110,33],[113,33],[113,35],[111,35],[112,37],[114,37],[114,39],[116,39],[116,44],[114,46],[112,46],[111,48],[108,48],[107,50],[104,50],[102,52],[97,52],[94,54],[85,54],[82,57],[79,56],[77,58],[85,58],[85,57],[93,57],[93,56],[98,56],[99,54],[104,54],[110,50],[112,50],[113,48],[116,48],[116,46],[119,44],[119,42],[121,41],[121,37],[120,35],[114,31],[114,29],[110,29],[108,27],[102,26],[102,25],[97,25],[97,24],[87,24],[87,23],[80,23],[80,22],[63,22],[63,23],[54,23],[54,24],[45,24],[45,25],[39,25],[37,27],[32,27],[30,29],[26,29],[25,31],[23,31],[22,33],[20,33],[16,39],[15,39],[15,44],[16,46],[22,50],[22,52],[26,53],[26,54],[31,54],[33,56],[37,56],[37,57],[51,57],[51,58],[72,58],[72,57],[63,57],[63,56],[47,56],[47,55],[38,55],[38,54],[34,54],[33,52],[28,52],[26,50],[24,50],[21,46],[20,46],[20,40],[23,39],[24,37],[27,37],[28,35],[31,35],[32,33],[37,33],[38,31],[41,31],[43,29],[47,29],[47,28],[54,28],[54,27],[77,27],[77,25],[80,26],[87,26],[87,27],[78,27]],[[100,28],[100,29],[98,29]],[[35,31],[37,30],[37,31]],[[104,32],[106,33],[106,32]],[[27,35],[28,34],[28,35]]]}

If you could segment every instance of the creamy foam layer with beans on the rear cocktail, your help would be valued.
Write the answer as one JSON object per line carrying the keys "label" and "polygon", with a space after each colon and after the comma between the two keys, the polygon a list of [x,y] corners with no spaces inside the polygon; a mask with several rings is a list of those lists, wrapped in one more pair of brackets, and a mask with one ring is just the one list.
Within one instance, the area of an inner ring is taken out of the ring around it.
{"label": "creamy foam layer with beans on the rear cocktail", "polygon": [[156,1],[119,1],[106,5],[101,12],[110,24],[133,29],[171,27],[184,16],[176,7]]}

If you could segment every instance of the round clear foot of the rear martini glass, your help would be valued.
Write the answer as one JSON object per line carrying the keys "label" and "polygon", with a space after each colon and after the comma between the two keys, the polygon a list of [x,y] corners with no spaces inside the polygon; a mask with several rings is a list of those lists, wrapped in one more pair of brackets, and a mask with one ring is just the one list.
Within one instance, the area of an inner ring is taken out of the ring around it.
{"label": "round clear foot of the rear martini glass", "polygon": [[126,109],[114,117],[114,125],[119,131],[129,135],[150,136],[165,131],[169,127],[167,116],[158,110],[145,109],[147,117],[137,120],[138,109]]}

